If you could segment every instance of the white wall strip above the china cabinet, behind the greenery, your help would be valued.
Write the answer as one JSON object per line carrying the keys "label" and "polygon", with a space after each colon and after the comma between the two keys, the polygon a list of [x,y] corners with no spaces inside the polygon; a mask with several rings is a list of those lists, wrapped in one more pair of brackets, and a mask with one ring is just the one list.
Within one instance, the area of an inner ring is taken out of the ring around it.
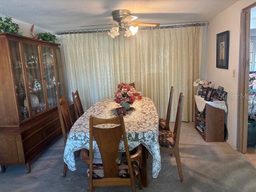
{"label": "white wall strip above the china cabinet, behind the greenery", "polygon": [[[4,19],[5,15],[0,14],[0,17],[2,17]],[[32,37],[30,35],[30,27],[32,26],[33,23],[32,24],[26,23],[26,22],[23,22],[23,21],[14,19],[14,18],[12,18],[12,22],[19,24],[19,27],[20,27],[19,32],[23,32],[23,36]],[[53,32],[50,30],[34,26],[34,34],[36,35],[40,32],[50,32],[53,34]]]}

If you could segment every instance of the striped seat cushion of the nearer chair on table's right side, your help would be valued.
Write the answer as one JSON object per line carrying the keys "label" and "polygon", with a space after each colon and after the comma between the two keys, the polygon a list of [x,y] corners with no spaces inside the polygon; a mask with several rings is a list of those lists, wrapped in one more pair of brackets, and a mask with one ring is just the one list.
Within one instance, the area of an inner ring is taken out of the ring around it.
{"label": "striped seat cushion of the nearer chair on table's right side", "polygon": [[158,142],[161,147],[174,146],[174,134],[168,130],[159,130]]}

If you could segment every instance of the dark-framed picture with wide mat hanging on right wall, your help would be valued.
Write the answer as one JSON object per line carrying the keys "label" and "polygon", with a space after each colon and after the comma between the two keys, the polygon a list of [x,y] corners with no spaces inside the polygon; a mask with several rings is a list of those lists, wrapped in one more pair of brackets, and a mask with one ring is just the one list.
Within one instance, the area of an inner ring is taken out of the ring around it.
{"label": "dark-framed picture with wide mat hanging on right wall", "polygon": [[229,31],[217,34],[217,58],[216,67],[221,69],[228,69],[229,56]]}

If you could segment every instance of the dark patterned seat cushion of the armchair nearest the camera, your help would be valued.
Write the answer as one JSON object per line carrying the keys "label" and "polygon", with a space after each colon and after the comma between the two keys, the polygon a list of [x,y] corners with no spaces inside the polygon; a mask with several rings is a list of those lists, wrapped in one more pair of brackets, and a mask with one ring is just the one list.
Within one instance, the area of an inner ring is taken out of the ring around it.
{"label": "dark patterned seat cushion of the armchair nearest the camera", "polygon": [[[139,171],[139,164],[140,160],[136,160],[135,162],[132,162],[132,169],[133,169],[133,174],[136,176],[138,175]],[[87,175],[88,177],[90,176],[90,167],[88,164],[87,168]],[[130,177],[130,172],[129,172],[129,167],[126,159],[121,160],[120,164],[118,164],[118,173],[121,178],[128,178]],[[101,179],[104,178],[104,171],[103,171],[103,165],[102,164],[93,164],[92,165],[92,175],[94,179]]]}

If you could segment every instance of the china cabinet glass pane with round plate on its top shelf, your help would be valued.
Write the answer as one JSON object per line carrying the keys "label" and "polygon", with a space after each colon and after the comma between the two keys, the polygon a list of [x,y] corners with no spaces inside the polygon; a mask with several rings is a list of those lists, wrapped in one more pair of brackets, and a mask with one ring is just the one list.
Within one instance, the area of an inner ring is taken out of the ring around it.
{"label": "china cabinet glass pane with round plate on its top shelf", "polygon": [[41,47],[48,108],[56,107],[57,89],[52,48]]}

